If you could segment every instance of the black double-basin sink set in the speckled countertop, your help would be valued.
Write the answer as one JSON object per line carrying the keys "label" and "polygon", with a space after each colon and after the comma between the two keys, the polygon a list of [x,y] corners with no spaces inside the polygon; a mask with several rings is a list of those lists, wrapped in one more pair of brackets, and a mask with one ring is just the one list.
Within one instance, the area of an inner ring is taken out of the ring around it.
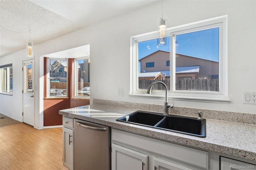
{"label": "black double-basin sink set in the speckled countertop", "polygon": [[136,111],[116,119],[116,121],[158,128],[202,138],[206,137],[206,120],[200,120],[194,117]]}

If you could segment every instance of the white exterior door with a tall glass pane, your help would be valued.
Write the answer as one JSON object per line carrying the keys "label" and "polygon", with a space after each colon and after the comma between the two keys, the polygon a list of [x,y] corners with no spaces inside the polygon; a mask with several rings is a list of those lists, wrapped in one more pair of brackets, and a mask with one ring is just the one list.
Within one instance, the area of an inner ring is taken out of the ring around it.
{"label": "white exterior door with a tall glass pane", "polygon": [[23,61],[23,122],[34,126],[34,59]]}

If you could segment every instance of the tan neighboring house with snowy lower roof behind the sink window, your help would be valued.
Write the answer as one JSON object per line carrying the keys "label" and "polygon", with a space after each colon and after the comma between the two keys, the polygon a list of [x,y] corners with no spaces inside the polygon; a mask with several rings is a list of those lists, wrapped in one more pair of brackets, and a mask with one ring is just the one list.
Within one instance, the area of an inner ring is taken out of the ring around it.
{"label": "tan neighboring house with snowy lower roof behind the sink window", "polygon": [[[140,76],[143,73],[161,72],[170,78],[170,52],[158,50],[140,61]],[[219,63],[176,53],[176,79],[218,79]]]}

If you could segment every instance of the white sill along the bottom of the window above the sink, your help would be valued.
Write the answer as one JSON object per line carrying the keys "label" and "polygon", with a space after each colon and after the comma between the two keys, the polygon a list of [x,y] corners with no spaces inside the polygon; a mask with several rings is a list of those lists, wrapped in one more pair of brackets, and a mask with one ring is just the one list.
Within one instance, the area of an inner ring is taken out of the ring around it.
{"label": "white sill along the bottom of the window above the sink", "polygon": [[[148,94],[129,94],[131,97],[138,97],[144,99],[160,99],[164,98],[164,95],[148,95]],[[187,96],[168,96],[170,100],[178,100],[178,101],[193,101],[193,102],[201,102],[201,103],[224,103],[229,104],[230,99],[226,98],[210,98],[210,97],[187,97]]]}

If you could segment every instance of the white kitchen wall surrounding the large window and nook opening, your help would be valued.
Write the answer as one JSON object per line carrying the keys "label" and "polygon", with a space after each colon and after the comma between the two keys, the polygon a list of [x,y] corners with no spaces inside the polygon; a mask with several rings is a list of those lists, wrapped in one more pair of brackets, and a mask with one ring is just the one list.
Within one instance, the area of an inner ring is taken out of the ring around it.
{"label": "white kitchen wall surrounding the large window and nook opening", "polygon": [[[36,60],[36,127],[42,127],[43,60],[41,56],[90,44],[91,99],[163,105],[163,99],[131,97],[130,37],[156,31],[161,16],[158,2],[128,14],[82,28],[48,42],[34,45]],[[256,91],[256,1],[164,1],[169,27],[228,15],[229,104],[172,101],[174,106],[256,114],[256,105],[242,104],[242,91]],[[0,58],[0,65],[13,63],[13,96],[0,95],[0,113],[21,120],[22,57],[25,50]],[[124,96],[117,95],[124,88]],[[10,103],[14,107],[8,109]],[[92,100],[91,100],[92,103]],[[12,104],[12,105],[13,105]],[[7,107],[8,106],[8,107]]]}

